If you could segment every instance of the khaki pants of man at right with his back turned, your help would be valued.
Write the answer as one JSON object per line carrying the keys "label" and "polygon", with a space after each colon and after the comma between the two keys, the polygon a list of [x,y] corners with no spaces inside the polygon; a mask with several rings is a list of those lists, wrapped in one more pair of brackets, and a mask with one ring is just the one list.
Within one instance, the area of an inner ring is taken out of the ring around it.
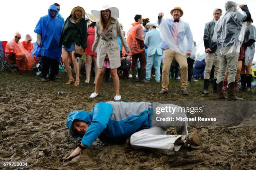
{"label": "khaki pants of man at right with his back turned", "polygon": [[[225,54],[231,46],[223,47],[223,53]],[[223,81],[225,72],[228,68],[228,84],[235,82],[237,72],[238,53],[236,51],[220,57],[220,69],[218,72],[217,83]]]}

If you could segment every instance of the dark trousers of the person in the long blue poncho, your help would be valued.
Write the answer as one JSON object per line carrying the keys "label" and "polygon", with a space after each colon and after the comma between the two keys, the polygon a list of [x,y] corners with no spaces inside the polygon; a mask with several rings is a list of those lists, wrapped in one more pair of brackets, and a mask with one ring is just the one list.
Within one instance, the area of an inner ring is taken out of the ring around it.
{"label": "dark trousers of the person in the long blue poncho", "polygon": [[44,78],[46,78],[49,69],[51,67],[51,72],[50,72],[50,79],[53,80],[55,75],[58,75],[59,72],[59,61],[46,57],[46,56],[42,56],[42,75]]}

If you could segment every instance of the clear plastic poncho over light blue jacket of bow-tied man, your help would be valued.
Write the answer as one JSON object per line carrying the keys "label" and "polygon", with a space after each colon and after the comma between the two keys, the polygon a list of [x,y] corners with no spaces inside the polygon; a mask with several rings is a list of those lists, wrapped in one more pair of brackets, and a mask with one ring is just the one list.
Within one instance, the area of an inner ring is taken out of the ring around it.
{"label": "clear plastic poncho over light blue jacket of bow-tied man", "polygon": [[[186,35],[186,32],[190,32],[187,23],[179,20],[178,27],[178,44],[175,43],[174,37],[172,35],[172,30],[170,30],[170,25],[168,23],[173,22],[173,18],[162,18],[159,25],[159,30],[161,32],[161,39],[166,43],[170,50],[174,50],[185,56],[187,49],[191,49],[192,54],[195,54],[195,45],[193,43],[192,34]],[[189,30],[188,30],[189,29]],[[189,36],[189,37],[187,37]],[[181,43],[182,42],[182,43]]]}

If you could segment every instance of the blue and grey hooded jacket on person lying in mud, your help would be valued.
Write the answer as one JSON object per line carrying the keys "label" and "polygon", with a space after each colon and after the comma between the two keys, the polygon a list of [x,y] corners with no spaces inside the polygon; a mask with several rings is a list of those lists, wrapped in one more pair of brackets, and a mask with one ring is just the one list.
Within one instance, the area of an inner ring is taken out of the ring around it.
{"label": "blue and grey hooded jacket on person lying in mud", "polygon": [[98,102],[90,113],[82,110],[69,113],[67,127],[70,131],[75,119],[86,122],[89,128],[85,134],[72,137],[82,138],[81,143],[90,147],[97,138],[110,143],[150,128],[152,112],[150,102]]}

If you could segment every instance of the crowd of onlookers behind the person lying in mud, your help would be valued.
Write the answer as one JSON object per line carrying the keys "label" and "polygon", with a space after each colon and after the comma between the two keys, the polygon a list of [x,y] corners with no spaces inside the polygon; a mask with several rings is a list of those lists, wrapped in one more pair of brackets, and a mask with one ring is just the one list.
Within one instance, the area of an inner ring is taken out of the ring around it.
{"label": "crowd of onlookers behind the person lying in mud", "polygon": [[[238,6],[242,12],[238,11]],[[238,91],[239,77],[239,90],[251,90],[256,28],[251,25],[253,20],[247,5],[228,1],[225,10],[222,16],[223,10],[215,8],[212,21],[205,25],[204,46],[207,56],[202,93],[209,94],[210,75],[214,67],[213,93],[218,93],[220,99],[242,100],[236,97],[235,92]],[[165,94],[170,88],[169,72],[171,70],[174,78],[176,69],[175,79],[180,77],[181,93],[188,95],[187,85],[191,81],[195,62],[192,53],[196,44],[189,23],[181,19],[184,13],[181,7],[174,7],[170,11],[172,18],[159,13],[158,23],[135,15],[127,39],[123,25],[118,22],[117,7],[104,5],[100,10],[92,10],[92,14],[86,13],[82,7],[74,7],[65,21],[59,11],[59,4],[51,5],[48,15],[40,18],[34,30],[37,35],[35,53],[41,57],[42,81],[46,81],[47,75],[50,80],[58,80],[62,60],[69,76],[67,85],[74,83],[79,86],[79,78],[84,73],[85,83],[88,84],[94,66],[95,90],[90,98],[97,97],[104,75],[106,81],[111,75],[115,88],[114,100],[121,100],[120,72],[123,77],[129,78],[131,69],[133,81],[149,83],[154,70],[156,82],[161,81],[160,93]],[[13,60],[20,70],[31,70],[35,64],[31,53],[32,38],[26,35],[26,40],[19,42],[20,38],[17,32],[15,38],[6,45],[7,58]],[[178,69],[174,65],[178,65]],[[228,97],[223,93],[225,90],[228,90]]]}

